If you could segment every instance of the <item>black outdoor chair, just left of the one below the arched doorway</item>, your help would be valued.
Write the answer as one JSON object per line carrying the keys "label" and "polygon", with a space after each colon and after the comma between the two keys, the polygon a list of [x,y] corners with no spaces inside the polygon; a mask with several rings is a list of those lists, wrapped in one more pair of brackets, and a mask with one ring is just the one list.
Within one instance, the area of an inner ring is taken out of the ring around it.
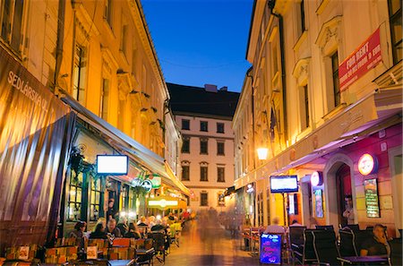
{"label": "black outdoor chair, just left of the one below the arched doorway", "polygon": [[313,249],[318,262],[340,265],[336,234],[332,230],[314,230]]}

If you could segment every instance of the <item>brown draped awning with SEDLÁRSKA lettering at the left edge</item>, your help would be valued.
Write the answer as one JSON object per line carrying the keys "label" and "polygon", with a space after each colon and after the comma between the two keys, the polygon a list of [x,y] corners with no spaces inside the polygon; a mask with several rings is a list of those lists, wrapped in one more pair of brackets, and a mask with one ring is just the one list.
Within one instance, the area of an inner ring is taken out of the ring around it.
{"label": "brown draped awning with SEDL\u00c1RSKA lettering at the left edge", "polygon": [[0,47],[0,250],[55,234],[74,119]]}

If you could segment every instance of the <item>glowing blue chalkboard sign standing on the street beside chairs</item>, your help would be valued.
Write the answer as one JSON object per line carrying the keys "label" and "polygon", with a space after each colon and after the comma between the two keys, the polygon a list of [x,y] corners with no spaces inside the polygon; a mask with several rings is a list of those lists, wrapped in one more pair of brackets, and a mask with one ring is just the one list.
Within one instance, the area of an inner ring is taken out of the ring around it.
{"label": "glowing blue chalkboard sign standing on the street beside chairs", "polygon": [[264,264],[281,264],[281,235],[262,234],[260,248],[260,262]]}

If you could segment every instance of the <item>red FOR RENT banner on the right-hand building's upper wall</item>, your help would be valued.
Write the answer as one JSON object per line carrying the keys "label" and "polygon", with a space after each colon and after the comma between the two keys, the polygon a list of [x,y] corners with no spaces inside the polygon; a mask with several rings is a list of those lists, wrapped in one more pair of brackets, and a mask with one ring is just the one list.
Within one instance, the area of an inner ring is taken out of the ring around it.
{"label": "red FOR RENT banner on the right-hand building's upper wall", "polygon": [[382,61],[379,29],[339,65],[340,91]]}

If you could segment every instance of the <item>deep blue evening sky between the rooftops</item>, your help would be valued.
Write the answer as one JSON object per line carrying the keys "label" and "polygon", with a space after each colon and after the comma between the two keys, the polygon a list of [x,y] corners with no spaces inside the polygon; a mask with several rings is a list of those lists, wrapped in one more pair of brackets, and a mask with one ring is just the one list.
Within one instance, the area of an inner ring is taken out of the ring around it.
{"label": "deep blue evening sky between the rooftops", "polygon": [[253,0],[142,0],[167,82],[241,91]]}

